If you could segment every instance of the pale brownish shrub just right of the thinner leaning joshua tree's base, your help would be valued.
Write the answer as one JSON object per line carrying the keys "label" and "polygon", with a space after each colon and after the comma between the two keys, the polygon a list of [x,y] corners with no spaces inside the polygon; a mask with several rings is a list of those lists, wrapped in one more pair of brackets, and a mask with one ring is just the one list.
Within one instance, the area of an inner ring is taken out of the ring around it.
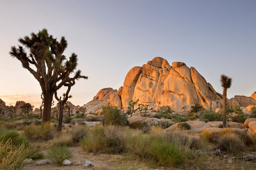
{"label": "pale brownish shrub just right of the thinner leaning joshua tree's base", "polygon": [[89,134],[89,129],[85,125],[76,126],[71,131],[72,139],[75,143],[78,143],[84,136]]}

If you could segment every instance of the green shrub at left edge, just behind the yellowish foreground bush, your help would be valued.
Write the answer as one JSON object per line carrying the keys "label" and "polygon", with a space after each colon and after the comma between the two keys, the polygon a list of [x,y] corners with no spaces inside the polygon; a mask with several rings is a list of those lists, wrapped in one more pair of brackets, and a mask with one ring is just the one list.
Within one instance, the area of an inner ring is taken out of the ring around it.
{"label": "green shrub at left edge, just behind the yellowish foreground bush", "polygon": [[24,143],[24,146],[28,146],[29,142],[27,142],[27,138],[23,135],[20,135],[16,130],[5,130],[0,132],[0,140],[3,143],[11,140],[11,143],[15,146],[21,145]]}

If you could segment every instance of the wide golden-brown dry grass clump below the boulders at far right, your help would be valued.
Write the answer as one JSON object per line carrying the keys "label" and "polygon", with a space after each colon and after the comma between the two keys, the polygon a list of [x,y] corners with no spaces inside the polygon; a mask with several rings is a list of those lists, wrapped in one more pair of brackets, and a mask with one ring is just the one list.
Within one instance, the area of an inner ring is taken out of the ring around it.
{"label": "wide golden-brown dry grass clump below the boulders at far right", "polygon": [[212,132],[204,130],[199,136],[204,141],[215,144],[217,149],[230,154],[238,154],[245,149],[247,144],[251,143],[247,134],[230,129]]}

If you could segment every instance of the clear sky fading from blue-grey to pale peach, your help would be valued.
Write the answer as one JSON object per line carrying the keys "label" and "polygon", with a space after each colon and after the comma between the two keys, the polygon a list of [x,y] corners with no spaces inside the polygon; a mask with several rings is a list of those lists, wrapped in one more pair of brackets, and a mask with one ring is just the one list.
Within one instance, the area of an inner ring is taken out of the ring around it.
{"label": "clear sky fading from blue-grey to pale peach", "polygon": [[[227,97],[256,91],[255,0],[0,0],[0,98],[41,104],[37,80],[8,52],[18,38],[47,28],[78,55],[88,80],[72,87],[83,105],[102,88],[118,89],[133,66],[156,56],[181,61],[222,93],[220,75],[233,78]],[[64,91],[60,90],[59,94]]]}

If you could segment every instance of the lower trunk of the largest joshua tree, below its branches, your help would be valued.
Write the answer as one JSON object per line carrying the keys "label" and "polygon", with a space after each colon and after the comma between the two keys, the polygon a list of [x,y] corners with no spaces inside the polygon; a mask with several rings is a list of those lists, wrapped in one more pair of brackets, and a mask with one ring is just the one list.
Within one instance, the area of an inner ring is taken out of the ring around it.
{"label": "lower trunk of the largest joshua tree, below its branches", "polygon": [[53,95],[44,96],[44,110],[42,115],[42,123],[46,123],[51,120],[52,99]]}

